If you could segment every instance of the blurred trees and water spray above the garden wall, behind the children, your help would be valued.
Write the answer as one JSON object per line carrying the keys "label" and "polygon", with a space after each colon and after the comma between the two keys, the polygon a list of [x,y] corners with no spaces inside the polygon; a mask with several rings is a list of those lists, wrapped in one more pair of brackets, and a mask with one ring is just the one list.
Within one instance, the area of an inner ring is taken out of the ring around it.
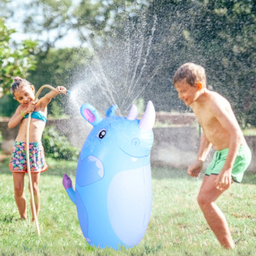
{"label": "blurred trees and water spray above the garden wall, behind the children", "polygon": [[[16,109],[16,75],[37,89],[75,90],[78,104],[117,103],[121,114],[139,98],[154,100],[156,111],[189,112],[172,78],[194,62],[242,127],[256,125],[255,1],[1,0],[0,10],[2,117]],[[78,114],[67,100],[50,114]]]}

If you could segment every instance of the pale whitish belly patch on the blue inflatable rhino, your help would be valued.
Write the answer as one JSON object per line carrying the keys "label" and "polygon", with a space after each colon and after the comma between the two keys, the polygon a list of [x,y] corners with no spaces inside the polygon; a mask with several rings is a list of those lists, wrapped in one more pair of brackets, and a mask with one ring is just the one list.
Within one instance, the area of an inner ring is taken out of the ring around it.
{"label": "pale whitish belly patch on the blue inflatable rhino", "polygon": [[107,193],[107,211],[114,233],[124,244],[134,246],[142,240],[151,205],[150,165],[114,176]]}

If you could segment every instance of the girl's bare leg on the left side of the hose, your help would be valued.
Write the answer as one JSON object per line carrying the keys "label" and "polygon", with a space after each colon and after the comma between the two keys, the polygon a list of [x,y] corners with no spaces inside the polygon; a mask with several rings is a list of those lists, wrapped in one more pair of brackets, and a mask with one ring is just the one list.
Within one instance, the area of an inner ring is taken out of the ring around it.
{"label": "girl's bare leg on the left side of the hose", "polygon": [[24,176],[25,173],[13,173],[14,178],[14,198],[16,205],[18,207],[18,213],[21,215],[22,219],[27,218],[26,213],[26,198],[23,193],[24,188]]}

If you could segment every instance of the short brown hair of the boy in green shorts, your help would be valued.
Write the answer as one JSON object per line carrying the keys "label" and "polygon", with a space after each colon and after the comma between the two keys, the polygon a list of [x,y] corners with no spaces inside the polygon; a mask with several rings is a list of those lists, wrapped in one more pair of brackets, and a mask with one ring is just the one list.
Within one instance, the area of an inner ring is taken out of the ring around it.
{"label": "short brown hair of the boy in green shorts", "polygon": [[174,75],[174,85],[184,78],[191,86],[196,86],[196,82],[201,82],[202,87],[206,87],[206,70],[201,65],[195,63],[181,65]]}

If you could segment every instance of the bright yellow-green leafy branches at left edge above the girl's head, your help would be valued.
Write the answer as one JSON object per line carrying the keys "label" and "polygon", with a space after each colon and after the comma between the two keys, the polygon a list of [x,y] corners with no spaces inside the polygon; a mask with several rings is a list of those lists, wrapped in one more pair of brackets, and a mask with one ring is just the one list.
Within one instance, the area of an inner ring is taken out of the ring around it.
{"label": "bright yellow-green leafy branches at left edge above the girl's head", "polygon": [[37,43],[24,40],[21,43],[11,43],[11,35],[16,31],[8,28],[4,18],[0,18],[0,94],[9,94],[14,77],[26,78],[29,70],[36,68]]}

